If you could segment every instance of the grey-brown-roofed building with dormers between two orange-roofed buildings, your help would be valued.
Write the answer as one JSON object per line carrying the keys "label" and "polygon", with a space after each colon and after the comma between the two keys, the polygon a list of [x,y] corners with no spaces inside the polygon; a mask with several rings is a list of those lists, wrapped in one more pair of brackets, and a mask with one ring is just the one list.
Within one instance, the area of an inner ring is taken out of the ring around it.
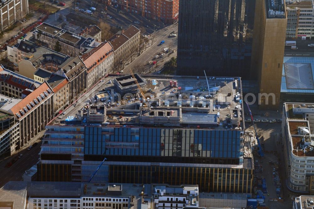
{"label": "grey-brown-roofed building with dormers between two orange-roofed buildings", "polygon": [[87,71],[80,56],[71,57],[62,65],[55,74],[67,78],[69,84],[67,93],[69,104],[78,99],[80,95],[87,91]]}

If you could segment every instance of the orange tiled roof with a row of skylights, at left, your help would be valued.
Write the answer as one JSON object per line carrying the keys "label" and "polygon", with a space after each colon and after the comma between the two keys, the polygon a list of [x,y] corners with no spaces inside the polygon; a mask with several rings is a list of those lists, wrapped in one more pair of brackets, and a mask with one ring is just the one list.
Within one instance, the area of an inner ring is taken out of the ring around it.
{"label": "orange tiled roof with a row of skylights, at left", "polygon": [[[21,117],[19,117],[19,119],[23,118],[23,116],[26,115],[26,113],[24,115],[22,115],[19,111],[23,110],[24,107],[27,108],[26,105],[30,105],[31,102],[34,103],[34,99],[37,100],[37,97],[40,97],[41,94],[44,94],[44,92],[48,93],[48,95],[51,95],[51,93],[49,93],[47,91],[47,89],[50,89],[49,86],[47,85],[46,82],[42,83],[38,88],[36,88],[33,92],[31,92],[29,95],[27,95],[24,99],[22,99],[18,104],[14,105],[11,108],[11,112],[13,115],[15,114],[19,114]],[[42,99],[42,98],[41,98]],[[45,95],[45,99],[42,99],[41,101],[38,101],[37,105],[40,105],[41,103],[43,103],[46,100],[46,95]],[[35,107],[37,106],[35,104]],[[32,107],[33,108],[33,107]]]}

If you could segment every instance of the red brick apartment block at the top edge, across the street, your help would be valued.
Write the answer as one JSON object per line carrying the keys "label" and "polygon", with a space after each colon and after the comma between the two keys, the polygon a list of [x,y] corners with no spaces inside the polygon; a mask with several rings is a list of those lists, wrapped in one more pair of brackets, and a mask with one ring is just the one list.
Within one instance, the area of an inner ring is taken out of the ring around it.
{"label": "red brick apartment block at the top edge, across the street", "polygon": [[173,23],[179,16],[179,0],[112,0],[111,5],[167,24]]}

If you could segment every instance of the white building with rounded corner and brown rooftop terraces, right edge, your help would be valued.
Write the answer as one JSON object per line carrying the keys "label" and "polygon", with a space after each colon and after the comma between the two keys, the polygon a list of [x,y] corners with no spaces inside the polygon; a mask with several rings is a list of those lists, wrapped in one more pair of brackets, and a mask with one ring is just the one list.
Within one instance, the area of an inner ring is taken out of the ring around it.
{"label": "white building with rounded corner and brown rooftop terraces, right edge", "polygon": [[314,104],[284,103],[282,136],[287,189],[292,199],[314,194]]}

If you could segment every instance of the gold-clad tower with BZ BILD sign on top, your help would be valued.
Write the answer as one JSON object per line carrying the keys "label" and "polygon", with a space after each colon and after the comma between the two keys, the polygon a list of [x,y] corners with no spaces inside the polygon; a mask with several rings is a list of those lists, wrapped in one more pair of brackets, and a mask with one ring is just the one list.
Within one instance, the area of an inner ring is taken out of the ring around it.
{"label": "gold-clad tower with BZ BILD sign on top", "polygon": [[251,75],[257,78],[260,109],[278,110],[284,41],[287,27],[285,5],[278,0],[257,0]]}

